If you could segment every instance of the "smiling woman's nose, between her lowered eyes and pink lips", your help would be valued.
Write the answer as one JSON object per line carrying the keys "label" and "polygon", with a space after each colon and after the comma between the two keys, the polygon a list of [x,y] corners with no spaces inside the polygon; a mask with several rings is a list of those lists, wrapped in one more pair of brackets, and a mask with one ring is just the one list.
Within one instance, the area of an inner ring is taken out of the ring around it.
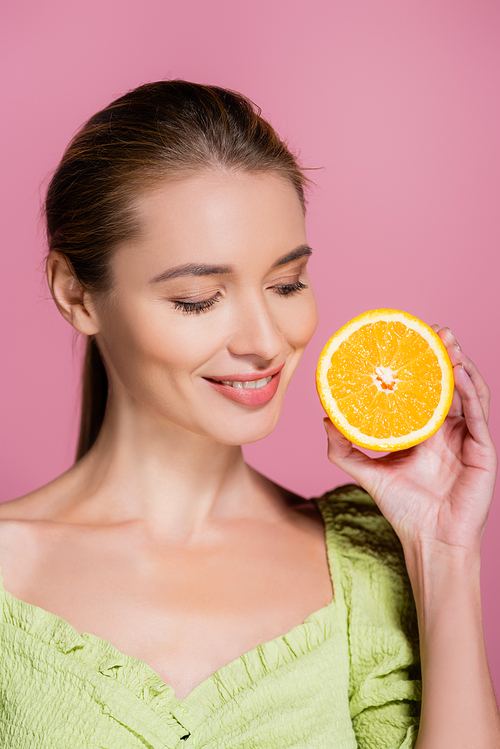
{"label": "smiling woman's nose, between her lowered eyes and pink lips", "polygon": [[283,335],[265,299],[252,295],[239,306],[228,349],[236,356],[250,356],[267,362],[279,356]]}

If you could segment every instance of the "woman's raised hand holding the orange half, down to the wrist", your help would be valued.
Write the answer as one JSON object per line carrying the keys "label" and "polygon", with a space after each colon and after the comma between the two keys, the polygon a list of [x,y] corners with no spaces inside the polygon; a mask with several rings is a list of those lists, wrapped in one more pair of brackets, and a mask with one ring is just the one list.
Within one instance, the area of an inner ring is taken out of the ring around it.
{"label": "woman's raised hand holding the orange half, down to the wrist", "polygon": [[455,376],[453,402],[441,428],[419,445],[370,458],[326,418],[328,457],[373,497],[403,543],[478,551],[497,470],[488,430],[489,390],[450,329],[432,327]]}

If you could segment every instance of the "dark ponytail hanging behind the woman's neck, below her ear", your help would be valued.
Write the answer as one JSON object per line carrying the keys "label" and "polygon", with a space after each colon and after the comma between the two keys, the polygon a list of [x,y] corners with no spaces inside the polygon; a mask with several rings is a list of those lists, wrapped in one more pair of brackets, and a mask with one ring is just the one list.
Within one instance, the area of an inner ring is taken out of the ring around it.
{"label": "dark ponytail hanging behind the woman's neck, below her ear", "polygon": [[76,460],[83,458],[102,426],[108,399],[108,376],[93,336],[87,338],[82,377],[82,411]]}

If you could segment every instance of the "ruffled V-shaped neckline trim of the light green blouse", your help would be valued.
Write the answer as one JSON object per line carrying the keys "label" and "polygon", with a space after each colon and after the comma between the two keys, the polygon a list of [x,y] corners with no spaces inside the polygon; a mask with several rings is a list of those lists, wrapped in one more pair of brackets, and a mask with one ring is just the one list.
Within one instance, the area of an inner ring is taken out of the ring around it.
{"label": "ruffled V-shaped neckline trim of the light green blouse", "polygon": [[187,721],[192,731],[213,715],[215,708],[227,705],[246,688],[319,647],[334,630],[344,628],[344,617],[338,616],[339,609],[345,606],[341,565],[328,495],[310,501],[315,503],[323,519],[333,599],[326,606],[313,611],[289,632],[255,646],[222,666],[183,700],[175,696],[174,688],[165,684],[145,661],[122,653],[97,635],[89,632],[80,634],[66,619],[16,598],[5,590],[0,571],[3,621],[58,653],[67,655],[75,665],[90,668],[122,685],[143,701],[161,721],[170,722],[173,717],[184,726]]}

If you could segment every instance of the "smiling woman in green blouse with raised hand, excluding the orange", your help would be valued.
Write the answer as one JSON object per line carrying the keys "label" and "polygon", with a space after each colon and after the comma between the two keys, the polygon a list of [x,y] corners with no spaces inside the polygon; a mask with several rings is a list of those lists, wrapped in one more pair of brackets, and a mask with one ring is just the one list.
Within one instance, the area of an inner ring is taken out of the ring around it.
{"label": "smiling woman in green blouse with raised hand, excluding the orange", "polygon": [[186,81],[66,151],[47,277],[88,337],[82,424],[75,465],[0,508],[2,746],[500,745],[488,390],[450,330],[436,435],[372,460],[325,421],[359,486],[311,502],[243,461],[316,327],[306,182],[250,102]]}

